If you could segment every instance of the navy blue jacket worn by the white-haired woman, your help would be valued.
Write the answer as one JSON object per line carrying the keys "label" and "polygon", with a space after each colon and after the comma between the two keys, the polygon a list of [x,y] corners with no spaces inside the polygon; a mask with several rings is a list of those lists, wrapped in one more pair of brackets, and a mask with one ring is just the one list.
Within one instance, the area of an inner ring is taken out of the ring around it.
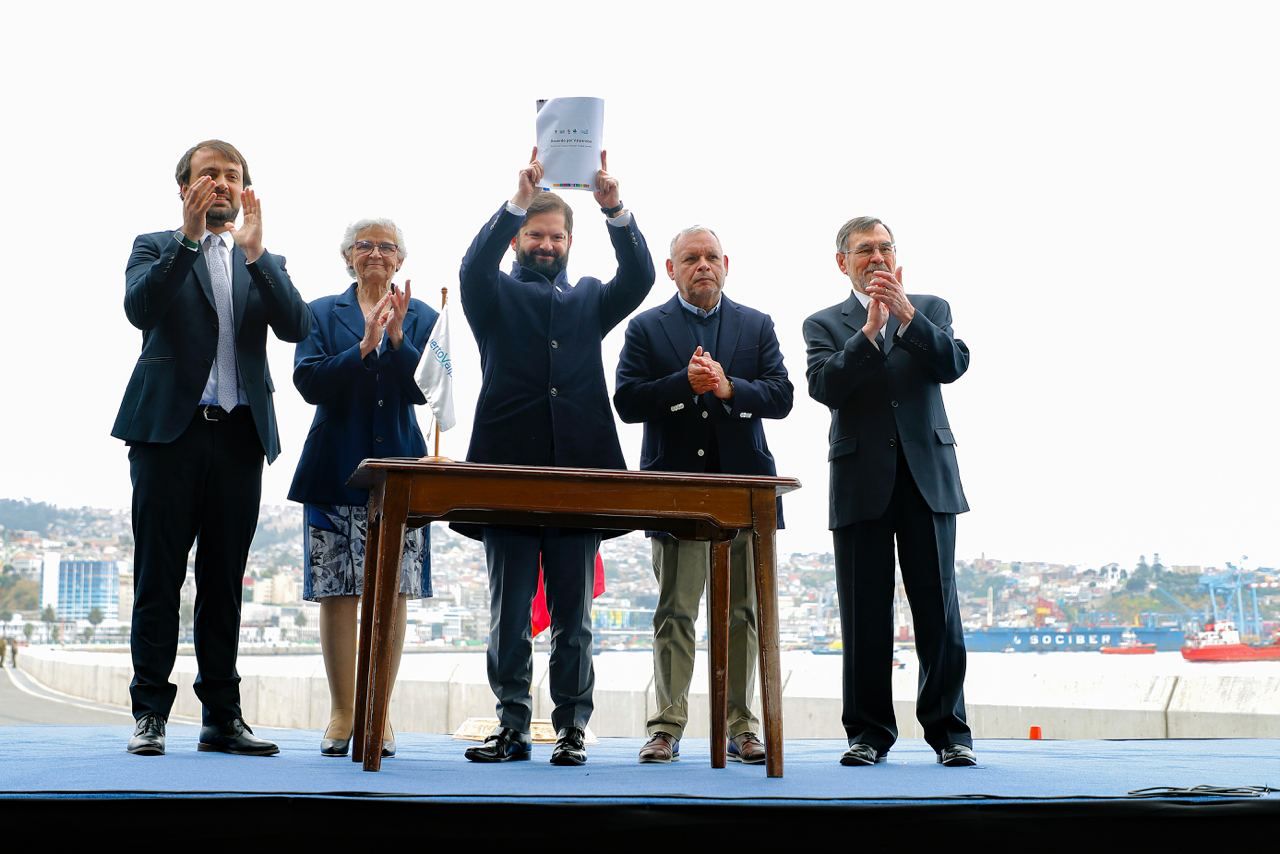
{"label": "navy blue jacket worn by the white-haired woman", "polygon": [[366,457],[421,457],[426,453],[413,406],[426,403],[417,364],[431,334],[435,310],[411,300],[399,350],[360,357],[365,315],[356,286],[311,303],[311,334],[293,353],[293,384],[316,407],[302,447],[289,501],[311,504],[369,503],[367,489],[347,487]]}

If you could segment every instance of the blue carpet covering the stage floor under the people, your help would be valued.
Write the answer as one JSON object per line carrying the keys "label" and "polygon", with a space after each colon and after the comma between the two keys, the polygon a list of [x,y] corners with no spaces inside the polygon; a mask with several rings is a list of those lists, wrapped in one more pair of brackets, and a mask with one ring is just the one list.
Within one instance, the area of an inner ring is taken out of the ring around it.
{"label": "blue carpet covering the stage floor under the people", "polygon": [[[1149,787],[1280,787],[1280,741],[979,741],[975,768],[943,768],[923,741],[901,741],[884,764],[844,768],[844,744],[786,744],[786,776],[764,766],[713,769],[705,739],[681,744],[681,761],[640,766],[639,739],[590,745],[581,768],[548,764],[550,746],[531,762],[481,766],[465,761],[468,743],[399,734],[399,755],[367,773],[349,759],[319,754],[320,736],[261,730],[282,753],[270,758],[197,753],[197,729],[169,727],[168,755],[124,752],[129,731],[101,726],[5,727],[0,799],[129,795],[316,795],[431,802],[713,804],[742,802],[854,804],[952,799],[1114,799]],[[1280,795],[1267,794],[1275,802]]]}

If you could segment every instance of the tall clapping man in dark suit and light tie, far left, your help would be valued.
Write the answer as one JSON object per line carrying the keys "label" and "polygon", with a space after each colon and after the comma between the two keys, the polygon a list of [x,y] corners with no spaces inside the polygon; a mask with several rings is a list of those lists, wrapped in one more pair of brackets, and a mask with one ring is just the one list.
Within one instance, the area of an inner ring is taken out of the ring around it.
{"label": "tall clapping man in dark suit and light tie, far left", "polygon": [[278,749],[244,725],[236,652],[262,460],[280,452],[266,330],[301,341],[311,312],[284,259],[262,248],[261,205],[239,151],[220,140],[197,143],[178,161],[177,181],[182,227],[140,236],[125,269],[124,314],[142,330],[142,355],[111,429],[129,446],[133,481],[136,727],[128,750],[165,750],[179,592],[198,543],[198,746],[264,755]]}

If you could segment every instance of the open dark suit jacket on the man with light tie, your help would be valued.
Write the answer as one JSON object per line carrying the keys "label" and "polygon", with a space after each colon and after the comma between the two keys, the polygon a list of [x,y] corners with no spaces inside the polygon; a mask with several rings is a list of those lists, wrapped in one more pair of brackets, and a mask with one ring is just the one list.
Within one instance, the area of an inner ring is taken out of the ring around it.
{"label": "open dark suit jacket on the man with light tie", "polygon": [[[302,341],[311,312],[284,257],[264,252],[253,264],[232,250],[236,360],[266,461],[280,453],[275,385],[266,364],[266,328]],[[173,442],[196,414],[218,353],[218,311],[204,250],[184,248],[174,232],[141,234],[124,274],[124,314],[142,330],[142,355],[124,391],[111,435],[125,442]]]}

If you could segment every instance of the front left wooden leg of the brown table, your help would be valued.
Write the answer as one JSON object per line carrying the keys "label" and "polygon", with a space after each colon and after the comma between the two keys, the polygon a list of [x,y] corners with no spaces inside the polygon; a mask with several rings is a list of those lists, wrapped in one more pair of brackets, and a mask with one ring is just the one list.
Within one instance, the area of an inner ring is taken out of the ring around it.
{"label": "front left wooden leg of the brown table", "polygon": [[[379,771],[383,766],[383,727],[387,725],[387,707],[392,697],[392,627],[399,604],[399,566],[404,553],[404,517],[408,515],[410,481],[404,476],[388,475],[383,492],[383,524],[378,538],[378,571],[369,602],[370,579],[365,579],[366,604],[371,604],[370,630],[369,713],[365,718],[365,771]],[[365,552],[367,566],[370,554]]]}

